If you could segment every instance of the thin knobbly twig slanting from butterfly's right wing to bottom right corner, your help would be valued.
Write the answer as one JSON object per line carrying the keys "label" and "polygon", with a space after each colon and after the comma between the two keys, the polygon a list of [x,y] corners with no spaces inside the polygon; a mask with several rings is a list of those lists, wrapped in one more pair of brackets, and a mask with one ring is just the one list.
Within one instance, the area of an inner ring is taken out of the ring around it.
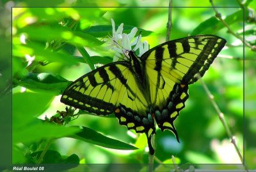
{"label": "thin knobbly twig slanting from butterfly's right wing to bottom right corner", "polygon": [[239,150],[239,148],[237,147],[237,144],[236,144],[236,138],[235,136],[233,135],[233,133],[230,131],[230,128],[228,127],[226,121],[225,121],[225,117],[224,117],[224,114],[220,111],[220,108],[218,106],[218,104],[214,101],[214,96],[211,94],[210,90],[208,89],[208,87],[205,85],[205,82],[201,79],[201,76],[198,74],[196,75],[196,78],[198,78],[198,80],[200,81],[200,83],[202,83],[203,87],[204,87],[204,90],[207,94],[207,96],[209,97],[211,103],[212,103],[212,106],[214,107],[214,109],[216,110],[216,112],[218,113],[218,116],[221,120],[221,123],[223,125],[223,127],[225,128],[225,131],[227,132],[227,135],[228,137],[231,139],[231,143],[233,143],[234,147],[236,148],[236,152],[240,158],[240,161],[242,162],[243,166],[244,166],[244,169],[246,171],[248,171],[248,168],[246,167],[246,164],[244,162],[244,159],[243,159],[243,156]]}

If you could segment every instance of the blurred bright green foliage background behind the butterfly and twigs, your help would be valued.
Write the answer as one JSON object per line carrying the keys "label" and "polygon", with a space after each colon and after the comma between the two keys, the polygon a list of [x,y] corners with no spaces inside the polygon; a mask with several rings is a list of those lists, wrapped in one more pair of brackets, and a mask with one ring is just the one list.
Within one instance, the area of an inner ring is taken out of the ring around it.
{"label": "blurred bright green foliage background behind the butterfly and twigs", "polygon": [[[57,110],[65,111],[60,95],[69,81],[91,71],[93,64],[112,61],[115,52],[104,49],[102,42],[102,38],[111,35],[110,18],[115,20],[116,26],[124,23],[124,32],[130,32],[132,27],[143,29],[143,40],[147,40],[151,48],[163,43],[168,8],[162,7],[168,6],[168,1],[12,2],[1,2],[6,9],[17,6],[12,8],[12,162],[35,163],[42,151],[48,150],[42,163],[147,163],[145,136],[131,131],[127,134],[127,128],[119,125],[113,116],[97,117],[79,111],[79,117],[65,127],[38,118],[44,119],[45,115],[50,118]],[[230,29],[242,38],[244,15],[245,38],[255,46],[256,1],[245,4],[239,4],[239,0],[214,1],[214,4],[221,7],[217,10]],[[90,6],[93,8],[88,8]],[[106,6],[116,7],[103,8]],[[173,6],[171,39],[196,34],[216,34],[227,39],[227,47],[203,79],[225,114],[246,164],[251,169],[256,168],[256,137],[253,137],[256,133],[256,92],[252,63],[255,49],[245,46],[243,61],[243,43],[216,19],[208,1],[173,1]],[[10,13],[8,10],[1,12]],[[4,25],[4,21],[1,22]],[[4,25],[4,29],[7,28],[10,25]],[[20,41],[22,35],[26,37],[26,44]],[[10,35],[1,32],[1,36]],[[29,65],[27,54],[35,56]],[[3,81],[8,80],[4,78],[9,70],[7,66],[10,64],[1,59]],[[10,89],[9,84],[1,82],[1,88],[7,85]],[[1,89],[1,94],[6,92],[8,89]],[[157,131],[156,157],[159,161],[156,163],[172,163],[174,155],[176,162],[182,164],[239,164],[234,146],[200,82],[189,87],[189,95],[186,108],[175,121],[181,143],[177,143],[169,131]],[[132,145],[139,149],[134,150]],[[204,168],[204,165],[196,168]],[[218,165],[213,168],[218,169]],[[236,169],[237,166],[227,168]]]}

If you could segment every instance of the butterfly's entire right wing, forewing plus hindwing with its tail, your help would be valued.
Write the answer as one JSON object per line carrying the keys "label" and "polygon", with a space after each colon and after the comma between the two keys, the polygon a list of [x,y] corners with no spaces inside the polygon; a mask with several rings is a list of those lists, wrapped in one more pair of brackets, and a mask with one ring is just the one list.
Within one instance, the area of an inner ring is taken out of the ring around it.
{"label": "butterfly's entire right wing, forewing plus hindwing with its tail", "polygon": [[204,75],[225,43],[218,36],[190,36],[158,45],[141,56],[157,125],[162,131],[170,129],[178,141],[173,122],[188,99],[188,85],[196,82],[196,73]]}

